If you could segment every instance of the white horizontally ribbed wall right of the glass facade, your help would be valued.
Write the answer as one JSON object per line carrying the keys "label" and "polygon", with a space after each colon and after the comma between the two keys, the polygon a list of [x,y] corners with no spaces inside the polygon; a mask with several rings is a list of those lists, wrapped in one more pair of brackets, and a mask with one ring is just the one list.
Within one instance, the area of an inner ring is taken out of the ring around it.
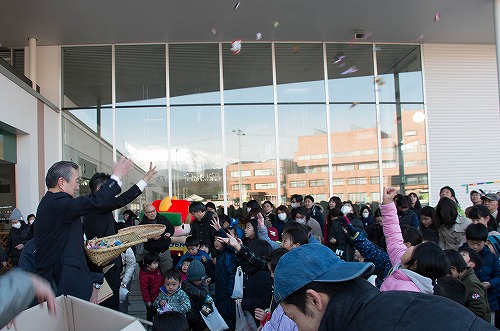
{"label": "white horizontally ribbed wall right of the glass facade", "polygon": [[469,206],[468,183],[500,180],[500,115],[495,45],[423,45],[430,204],[455,189]]}

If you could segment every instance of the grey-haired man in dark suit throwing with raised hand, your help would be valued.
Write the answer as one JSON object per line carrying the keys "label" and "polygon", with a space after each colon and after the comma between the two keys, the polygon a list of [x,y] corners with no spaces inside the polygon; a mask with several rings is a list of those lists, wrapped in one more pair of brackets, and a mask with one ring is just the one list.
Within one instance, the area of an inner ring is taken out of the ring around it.
{"label": "grey-haired man in dark suit throwing with raised hand", "polygon": [[95,281],[87,266],[80,217],[103,208],[121,191],[120,178],[133,163],[120,159],[113,165],[111,178],[95,194],[75,198],[78,165],[55,163],[47,171],[47,193],[36,212],[35,247],[37,274],[55,286],[57,295],[89,300]]}

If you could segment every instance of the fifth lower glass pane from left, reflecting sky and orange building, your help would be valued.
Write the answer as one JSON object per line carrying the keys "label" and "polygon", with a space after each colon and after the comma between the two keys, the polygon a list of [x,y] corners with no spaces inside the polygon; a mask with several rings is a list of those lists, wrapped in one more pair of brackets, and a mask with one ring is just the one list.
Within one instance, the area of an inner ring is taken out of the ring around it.
{"label": "fifth lower glass pane from left, reflecting sky and orange building", "polygon": [[[279,105],[279,159],[283,196],[310,194],[328,201],[326,105]],[[284,180],[283,180],[284,178]]]}

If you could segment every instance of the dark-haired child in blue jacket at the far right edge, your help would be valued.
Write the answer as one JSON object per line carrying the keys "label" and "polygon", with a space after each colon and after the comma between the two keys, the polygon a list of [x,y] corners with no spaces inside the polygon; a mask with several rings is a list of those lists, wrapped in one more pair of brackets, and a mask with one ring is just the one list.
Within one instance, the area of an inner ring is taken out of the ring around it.
{"label": "dark-haired child in blue jacket at the far right edge", "polygon": [[[488,228],[483,224],[471,224],[465,229],[465,238],[467,243],[464,244],[479,253],[482,259],[482,266],[476,271],[477,278],[483,283],[488,295],[490,304],[492,321],[500,309],[496,291],[500,289],[500,260],[495,254],[491,253],[486,240],[488,239]],[[495,325],[496,326],[496,325]]]}

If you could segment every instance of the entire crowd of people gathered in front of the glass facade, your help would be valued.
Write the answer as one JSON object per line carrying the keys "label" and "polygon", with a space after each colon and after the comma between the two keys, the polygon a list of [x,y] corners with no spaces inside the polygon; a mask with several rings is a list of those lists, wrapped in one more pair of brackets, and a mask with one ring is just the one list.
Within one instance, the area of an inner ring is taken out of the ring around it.
{"label": "entire crowd of people gathered in front of the glass facade", "polygon": [[[18,209],[11,214],[0,261],[5,265],[9,258],[15,269],[33,273],[28,276],[33,286],[15,292],[10,303],[0,300],[2,312],[6,306],[26,308],[35,294],[51,305],[54,294],[98,303],[106,281],[114,295],[99,304],[127,313],[138,263],[153,330],[206,330],[214,327],[213,316],[229,330],[417,330],[429,325],[488,330],[500,325],[496,193],[472,191],[465,211],[448,186],[440,190],[435,208],[395,188],[384,189],[380,206],[373,209],[336,196],[323,208],[313,196],[298,194],[290,197],[290,206],[250,200],[246,210],[229,215],[212,202],[192,202],[186,253],[173,259],[174,227],[152,204],[143,206],[142,219],[131,210],[123,213],[123,222],[113,217],[112,211],[137,198],[156,173],[151,165],[142,180],[118,195],[120,178],[130,167],[121,159],[111,175],[96,173],[91,194],[77,198],[78,166],[61,161],[49,169],[36,221],[30,215],[24,222]],[[128,248],[110,267],[86,258],[84,238],[137,224],[163,224],[165,231]],[[22,287],[9,281],[16,291]],[[0,326],[14,316],[2,314]]]}

